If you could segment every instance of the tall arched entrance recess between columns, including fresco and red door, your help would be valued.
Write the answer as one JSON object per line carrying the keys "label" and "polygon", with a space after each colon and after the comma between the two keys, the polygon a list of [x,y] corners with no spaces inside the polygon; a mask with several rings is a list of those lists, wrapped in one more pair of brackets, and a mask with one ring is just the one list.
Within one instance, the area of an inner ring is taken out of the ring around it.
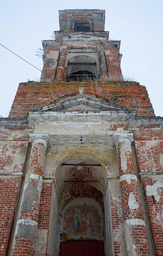
{"label": "tall arched entrance recess between columns, including fresco and red door", "polygon": [[[56,251],[61,256],[112,255],[106,176],[103,163],[87,154],[72,155],[57,168],[55,180],[60,202]],[[80,254],[76,249],[71,254],[70,245],[73,243],[70,242],[75,242],[73,246],[77,248],[77,242],[81,241]],[[99,248],[91,252],[92,241],[96,244],[95,248]],[[85,246],[89,248],[87,254],[83,251]]]}

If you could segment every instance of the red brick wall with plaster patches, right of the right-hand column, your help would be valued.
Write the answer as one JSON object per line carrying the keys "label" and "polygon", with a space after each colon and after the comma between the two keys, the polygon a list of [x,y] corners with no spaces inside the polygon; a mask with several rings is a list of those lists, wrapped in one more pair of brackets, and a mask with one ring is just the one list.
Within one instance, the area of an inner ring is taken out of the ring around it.
{"label": "red brick wall with plaster patches, right of the right-hand column", "polygon": [[[155,250],[157,255],[161,256],[163,255],[163,164],[161,162],[163,129],[160,125],[140,125],[137,128],[138,130],[134,131],[134,139],[139,170],[144,173],[142,182]],[[153,185],[156,186],[155,190],[152,188]]]}

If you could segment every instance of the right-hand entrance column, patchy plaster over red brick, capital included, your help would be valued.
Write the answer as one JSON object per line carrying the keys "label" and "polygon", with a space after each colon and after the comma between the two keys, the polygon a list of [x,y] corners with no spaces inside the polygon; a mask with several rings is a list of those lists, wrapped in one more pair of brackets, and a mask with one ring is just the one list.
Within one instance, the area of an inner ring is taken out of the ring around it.
{"label": "right-hand entrance column, patchy plaster over red brick, capital included", "polygon": [[128,255],[150,255],[131,149],[133,134],[114,134],[117,149],[124,232]]}

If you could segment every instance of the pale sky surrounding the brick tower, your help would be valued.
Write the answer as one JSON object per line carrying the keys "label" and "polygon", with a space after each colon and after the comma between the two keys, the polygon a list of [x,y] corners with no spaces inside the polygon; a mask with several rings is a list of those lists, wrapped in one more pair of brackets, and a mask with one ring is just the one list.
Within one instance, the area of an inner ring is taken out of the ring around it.
{"label": "pale sky surrounding the brick tower", "polygon": [[[6,0],[1,2],[0,43],[42,69],[35,56],[41,40],[59,30],[58,10],[106,10],[105,30],[121,40],[121,69],[145,85],[157,116],[163,116],[163,1],[162,0]],[[8,116],[18,84],[39,79],[41,72],[0,45],[0,115]]]}

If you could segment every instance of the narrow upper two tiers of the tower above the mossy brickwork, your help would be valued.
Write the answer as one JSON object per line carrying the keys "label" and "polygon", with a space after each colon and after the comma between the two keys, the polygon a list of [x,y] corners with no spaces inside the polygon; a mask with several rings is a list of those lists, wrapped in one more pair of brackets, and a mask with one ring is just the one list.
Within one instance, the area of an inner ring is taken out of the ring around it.
{"label": "narrow upper two tiers of the tower above the mossy brickwork", "polygon": [[56,40],[43,41],[41,81],[122,78],[120,41],[108,41],[105,10],[59,11]]}

